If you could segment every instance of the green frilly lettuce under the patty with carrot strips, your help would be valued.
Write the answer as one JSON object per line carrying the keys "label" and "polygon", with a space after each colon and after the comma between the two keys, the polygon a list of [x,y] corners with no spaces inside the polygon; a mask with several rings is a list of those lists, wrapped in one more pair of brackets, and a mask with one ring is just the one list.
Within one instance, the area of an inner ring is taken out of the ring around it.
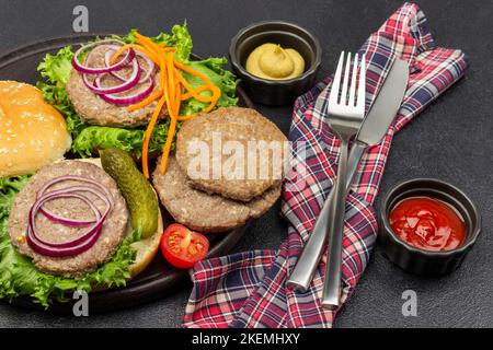
{"label": "green frilly lettuce under the patty with carrot strips", "polygon": [[[133,30],[124,37],[116,35],[113,37],[126,43],[134,43],[136,40],[135,33],[136,30]],[[203,61],[188,60],[193,43],[186,23],[174,25],[171,34],[160,33],[152,37],[152,40],[175,47],[176,59],[200,71],[221,90],[218,107],[238,105],[238,97],[236,97],[238,80],[231,72],[223,69],[223,66],[228,62],[226,58],[209,58]],[[44,81],[37,82],[37,88],[43,92],[45,100],[66,116],[67,129],[72,137],[71,152],[82,158],[90,158],[98,154],[98,149],[118,148],[129,152],[136,159],[140,158],[145,127],[111,128],[90,126],[77,115],[65,90],[71,70],[72,58],[72,48],[67,46],[56,55],[46,55],[37,68],[44,79]],[[194,75],[185,73],[184,77],[194,88],[202,84],[202,81]],[[206,95],[207,92],[203,92],[203,94]],[[183,102],[182,113],[197,113],[206,107],[207,104],[190,98]],[[179,127],[180,125],[181,122],[179,122]],[[168,129],[169,119],[158,122],[149,142],[149,152],[162,151]]]}

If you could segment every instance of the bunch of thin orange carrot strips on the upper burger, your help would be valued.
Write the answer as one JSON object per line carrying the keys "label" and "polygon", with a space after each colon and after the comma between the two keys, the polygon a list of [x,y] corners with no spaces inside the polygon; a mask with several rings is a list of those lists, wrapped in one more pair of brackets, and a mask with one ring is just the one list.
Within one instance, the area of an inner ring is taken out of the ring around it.
{"label": "bunch of thin orange carrot strips on the upper burger", "polygon": [[[142,172],[146,178],[149,178],[149,142],[152,136],[152,130],[158,121],[159,115],[161,114],[164,105],[168,108],[168,114],[170,117],[170,128],[168,130],[167,140],[163,147],[163,153],[160,163],[160,172],[164,174],[168,166],[168,159],[171,151],[171,145],[173,143],[174,133],[176,131],[177,122],[188,120],[195,117],[197,114],[193,113],[190,115],[180,115],[180,107],[182,101],[188,98],[196,98],[197,101],[208,103],[205,108],[205,113],[213,110],[217,105],[220,97],[220,90],[215,84],[213,84],[207,77],[203,73],[192,69],[191,67],[183,65],[174,59],[174,52],[176,49],[174,47],[168,47],[165,44],[156,44],[149,37],[136,33],[136,43],[122,46],[112,57],[111,62],[116,61],[116,59],[122,55],[122,52],[128,48],[134,48],[142,54],[147,55],[159,68],[159,88],[156,92],[147,96],[141,102],[128,106],[127,109],[133,112],[139,108],[146,107],[156,100],[159,98],[158,105],[151,116],[149,126],[146,130],[142,145]],[[197,77],[203,81],[204,85],[193,89],[192,85],[183,78],[181,71],[185,71],[188,74]],[[210,92],[210,95],[203,95],[203,92]]]}

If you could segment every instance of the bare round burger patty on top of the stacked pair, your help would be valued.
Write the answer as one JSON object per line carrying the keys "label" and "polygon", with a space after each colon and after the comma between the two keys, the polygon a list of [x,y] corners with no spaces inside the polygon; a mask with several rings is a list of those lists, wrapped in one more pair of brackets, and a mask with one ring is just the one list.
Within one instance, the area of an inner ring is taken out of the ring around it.
{"label": "bare round burger patty on top of the stacked pair", "polygon": [[[214,144],[218,144],[218,141],[222,149],[228,144],[243,148],[242,175],[228,178],[223,175],[225,171],[221,171],[220,176],[214,174],[228,163],[228,155],[221,155],[220,159],[214,155]],[[184,122],[176,137],[176,161],[194,188],[248,202],[280,183],[286,141],[284,133],[254,109],[219,108]],[[252,144],[256,147],[261,143],[266,145],[266,153],[260,148],[249,151]],[[197,148],[194,145],[200,144],[208,149],[208,174],[192,176],[188,170],[193,168],[197,158]],[[268,150],[271,145],[277,148],[277,154]],[[255,171],[253,174],[249,171],[249,164]]]}

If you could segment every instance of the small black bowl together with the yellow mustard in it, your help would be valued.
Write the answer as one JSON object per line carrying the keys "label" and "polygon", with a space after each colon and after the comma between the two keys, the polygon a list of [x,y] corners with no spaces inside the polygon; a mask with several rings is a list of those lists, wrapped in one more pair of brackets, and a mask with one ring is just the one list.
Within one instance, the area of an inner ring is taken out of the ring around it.
{"label": "small black bowl together with the yellow mustard in it", "polygon": [[[267,50],[268,59],[249,72],[249,57],[253,54],[262,58],[262,54],[259,55],[261,48]],[[242,28],[231,39],[229,57],[241,85],[254,102],[280,106],[291,104],[316,84],[322,48],[319,40],[299,25],[265,21]],[[265,68],[272,70],[262,71]]]}

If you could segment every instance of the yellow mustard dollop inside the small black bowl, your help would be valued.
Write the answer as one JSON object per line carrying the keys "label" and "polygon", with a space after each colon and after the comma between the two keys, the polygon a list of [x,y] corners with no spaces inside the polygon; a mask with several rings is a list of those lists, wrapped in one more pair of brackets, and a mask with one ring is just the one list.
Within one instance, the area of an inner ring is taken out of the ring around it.
{"label": "yellow mustard dollop inside the small black bowl", "polygon": [[246,71],[255,77],[271,80],[287,80],[299,77],[305,71],[302,56],[293,48],[282,48],[276,44],[263,44],[246,59]]}

